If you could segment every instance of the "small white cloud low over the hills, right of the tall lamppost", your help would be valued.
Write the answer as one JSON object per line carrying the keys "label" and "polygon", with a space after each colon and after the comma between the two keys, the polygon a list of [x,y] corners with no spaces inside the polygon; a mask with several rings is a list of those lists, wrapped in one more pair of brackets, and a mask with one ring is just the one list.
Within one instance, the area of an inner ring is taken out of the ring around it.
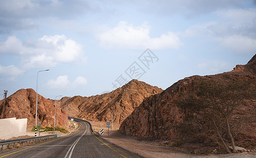
{"label": "small white cloud low over the hills, right of the tall lamppost", "polygon": [[66,90],[70,90],[73,87],[78,87],[78,86],[83,86],[87,84],[87,80],[86,78],[82,77],[82,76],[78,76],[77,78],[75,78],[75,80],[73,82],[69,81],[69,76],[68,75],[63,75],[63,76],[59,76],[57,77],[55,80],[49,80],[46,83],[46,86],[51,88],[51,89],[66,89]]}

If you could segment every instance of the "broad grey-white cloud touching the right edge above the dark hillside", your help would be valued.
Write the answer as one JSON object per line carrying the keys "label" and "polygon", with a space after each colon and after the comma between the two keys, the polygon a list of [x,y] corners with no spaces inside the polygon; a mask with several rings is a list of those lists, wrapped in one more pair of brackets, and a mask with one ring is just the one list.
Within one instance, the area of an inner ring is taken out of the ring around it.
{"label": "broad grey-white cloud touching the right edge above the dark hillside", "polygon": [[256,50],[256,8],[227,9],[215,12],[215,21],[194,25],[183,36],[202,36],[219,42],[220,46],[239,54]]}

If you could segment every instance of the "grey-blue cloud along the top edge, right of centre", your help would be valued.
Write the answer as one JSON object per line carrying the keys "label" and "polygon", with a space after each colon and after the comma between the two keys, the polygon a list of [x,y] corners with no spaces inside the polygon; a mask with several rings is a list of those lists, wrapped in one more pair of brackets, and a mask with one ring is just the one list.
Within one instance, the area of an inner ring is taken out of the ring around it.
{"label": "grey-blue cloud along the top edge, right of centre", "polygon": [[[251,2],[241,0],[140,0],[140,1],[125,1],[126,6],[147,11],[146,13],[158,14],[160,16],[179,14],[187,18],[198,17],[201,15],[210,14],[217,10],[231,7],[246,7]],[[124,2],[124,3],[125,3]]]}

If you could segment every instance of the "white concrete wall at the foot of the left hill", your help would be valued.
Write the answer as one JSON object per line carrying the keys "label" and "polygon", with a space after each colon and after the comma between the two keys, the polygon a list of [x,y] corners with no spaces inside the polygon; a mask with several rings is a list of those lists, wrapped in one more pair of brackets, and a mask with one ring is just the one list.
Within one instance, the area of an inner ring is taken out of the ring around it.
{"label": "white concrete wall at the foot of the left hill", "polygon": [[0,119],[0,139],[6,140],[14,136],[26,135],[27,118]]}

